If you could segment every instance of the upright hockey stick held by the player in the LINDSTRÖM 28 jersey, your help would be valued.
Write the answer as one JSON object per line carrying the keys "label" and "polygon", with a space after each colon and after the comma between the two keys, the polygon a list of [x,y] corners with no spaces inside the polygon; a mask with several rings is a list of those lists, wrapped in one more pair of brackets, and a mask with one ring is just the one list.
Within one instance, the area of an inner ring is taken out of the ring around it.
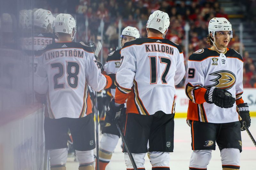
{"label": "upright hockey stick held by the player in the LINDSTR\u00d6M 28 jersey", "polygon": [[[100,53],[102,45],[99,42],[98,46],[95,50],[94,55],[96,56],[96,59]],[[97,169],[100,169],[100,159],[99,159],[99,121],[98,121],[98,108],[97,108],[97,92],[95,91],[95,117],[96,117],[96,160],[97,160]]]}

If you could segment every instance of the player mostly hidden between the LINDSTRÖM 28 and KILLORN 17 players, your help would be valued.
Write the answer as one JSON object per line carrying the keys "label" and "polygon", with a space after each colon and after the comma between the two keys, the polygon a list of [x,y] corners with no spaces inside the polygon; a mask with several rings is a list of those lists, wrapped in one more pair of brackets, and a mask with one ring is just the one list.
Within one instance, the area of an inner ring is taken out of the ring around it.
{"label": "player mostly hidden between the LINDSTR\u00d6M 28 and KILLORN 17 players", "polygon": [[[122,31],[121,35],[121,48],[124,46],[125,42],[140,38],[139,30],[132,26],[127,26]],[[108,73],[116,73],[119,69],[121,64],[121,49],[116,50],[110,54],[108,54],[107,62],[105,64],[105,72]],[[111,89],[111,95],[115,96],[115,89]],[[125,120],[125,110],[124,108],[122,111],[121,124],[124,124]],[[116,124],[111,117],[106,115],[103,128],[102,128],[103,136],[100,141],[100,170],[105,170],[106,166],[108,165],[112,153],[116,148],[118,139],[120,138],[120,134],[116,128]]]}

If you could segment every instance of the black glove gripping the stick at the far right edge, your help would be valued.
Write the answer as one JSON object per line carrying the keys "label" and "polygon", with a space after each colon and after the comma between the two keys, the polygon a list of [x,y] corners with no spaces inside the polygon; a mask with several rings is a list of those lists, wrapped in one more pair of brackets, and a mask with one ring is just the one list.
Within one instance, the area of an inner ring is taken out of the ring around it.
{"label": "black glove gripping the stick at the far right edge", "polygon": [[251,126],[251,117],[250,117],[249,106],[247,103],[241,103],[241,104],[237,105],[237,108],[238,108],[240,117],[242,118],[242,120],[240,120],[241,131],[244,131],[245,130],[244,122],[247,127]]}

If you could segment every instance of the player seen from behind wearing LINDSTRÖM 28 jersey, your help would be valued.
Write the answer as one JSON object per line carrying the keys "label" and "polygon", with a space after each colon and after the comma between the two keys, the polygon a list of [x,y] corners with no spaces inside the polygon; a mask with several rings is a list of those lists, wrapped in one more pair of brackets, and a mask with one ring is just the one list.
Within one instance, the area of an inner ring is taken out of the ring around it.
{"label": "player seen from behind wearing LINDSTR\u00d6M 28 jersey", "polygon": [[100,91],[109,88],[112,80],[100,73],[90,47],[72,42],[75,19],[70,14],[59,14],[55,23],[59,42],[45,47],[35,77],[36,92],[47,93],[45,148],[50,152],[51,170],[65,170],[69,128],[78,169],[93,170],[94,121],[87,84]]}

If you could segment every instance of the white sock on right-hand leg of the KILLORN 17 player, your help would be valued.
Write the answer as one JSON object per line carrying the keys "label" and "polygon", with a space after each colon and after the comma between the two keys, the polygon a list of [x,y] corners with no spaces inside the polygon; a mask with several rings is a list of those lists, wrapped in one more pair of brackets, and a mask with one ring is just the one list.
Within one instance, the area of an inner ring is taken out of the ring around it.
{"label": "white sock on right-hand leg of the KILLORN 17 player", "polygon": [[169,167],[169,152],[149,152],[152,167]]}

